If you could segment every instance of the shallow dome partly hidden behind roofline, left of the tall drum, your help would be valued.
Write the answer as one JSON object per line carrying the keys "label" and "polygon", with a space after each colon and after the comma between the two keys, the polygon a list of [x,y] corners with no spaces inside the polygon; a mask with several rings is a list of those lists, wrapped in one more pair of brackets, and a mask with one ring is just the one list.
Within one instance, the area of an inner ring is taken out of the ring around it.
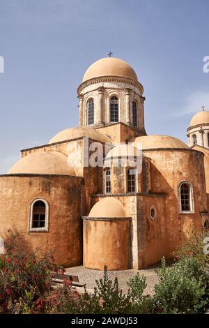
{"label": "shallow dome partly hidden behind roofline, left of the tall drum", "polygon": [[49,140],[49,144],[53,144],[54,142],[61,142],[65,140],[76,139],[78,137],[90,137],[93,140],[98,140],[99,142],[111,142],[111,139],[101,133],[96,131],[94,128],[66,128],[65,130],[57,133],[51,140]]}

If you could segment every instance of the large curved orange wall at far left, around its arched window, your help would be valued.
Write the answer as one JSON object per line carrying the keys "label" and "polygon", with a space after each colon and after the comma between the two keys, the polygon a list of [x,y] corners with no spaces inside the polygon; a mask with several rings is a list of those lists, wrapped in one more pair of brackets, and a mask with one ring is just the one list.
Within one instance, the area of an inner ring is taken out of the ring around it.
{"label": "large curved orange wall at far left, around its arched window", "polygon": [[[55,250],[57,264],[82,264],[82,179],[70,176],[19,174],[0,177],[0,235],[17,234],[29,251]],[[29,232],[30,204],[36,198],[49,204],[48,232]]]}

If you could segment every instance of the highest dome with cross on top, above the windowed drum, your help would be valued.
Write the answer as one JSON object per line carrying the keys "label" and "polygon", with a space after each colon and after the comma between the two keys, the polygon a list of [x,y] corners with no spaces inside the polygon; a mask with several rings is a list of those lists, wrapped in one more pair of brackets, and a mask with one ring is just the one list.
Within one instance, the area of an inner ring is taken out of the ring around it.
{"label": "highest dome with cross on top, above the windowed drum", "polygon": [[83,81],[101,76],[121,76],[138,81],[137,74],[126,61],[114,57],[102,58],[88,67]]}

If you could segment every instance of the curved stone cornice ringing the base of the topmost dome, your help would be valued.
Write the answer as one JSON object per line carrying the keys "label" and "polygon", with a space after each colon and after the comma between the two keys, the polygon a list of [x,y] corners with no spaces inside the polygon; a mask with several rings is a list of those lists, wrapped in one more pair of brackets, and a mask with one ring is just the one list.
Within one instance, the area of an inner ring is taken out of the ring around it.
{"label": "curved stone cornice ringing the base of the topmost dome", "polygon": [[142,84],[138,81],[132,80],[129,77],[120,77],[120,76],[101,76],[101,77],[95,77],[93,79],[87,80],[79,85],[77,89],[77,94],[80,94],[81,91],[88,87],[89,85],[100,83],[100,82],[121,82],[121,83],[127,83],[132,85],[133,87],[137,87],[141,94],[144,92],[144,87]]}

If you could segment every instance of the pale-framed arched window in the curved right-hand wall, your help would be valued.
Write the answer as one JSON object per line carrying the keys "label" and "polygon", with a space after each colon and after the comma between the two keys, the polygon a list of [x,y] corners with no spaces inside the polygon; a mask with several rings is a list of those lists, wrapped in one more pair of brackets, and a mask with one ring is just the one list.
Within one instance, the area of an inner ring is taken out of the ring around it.
{"label": "pale-framed arched window in the curved right-hand wall", "polygon": [[192,186],[187,181],[183,181],[179,186],[180,212],[193,211]]}

